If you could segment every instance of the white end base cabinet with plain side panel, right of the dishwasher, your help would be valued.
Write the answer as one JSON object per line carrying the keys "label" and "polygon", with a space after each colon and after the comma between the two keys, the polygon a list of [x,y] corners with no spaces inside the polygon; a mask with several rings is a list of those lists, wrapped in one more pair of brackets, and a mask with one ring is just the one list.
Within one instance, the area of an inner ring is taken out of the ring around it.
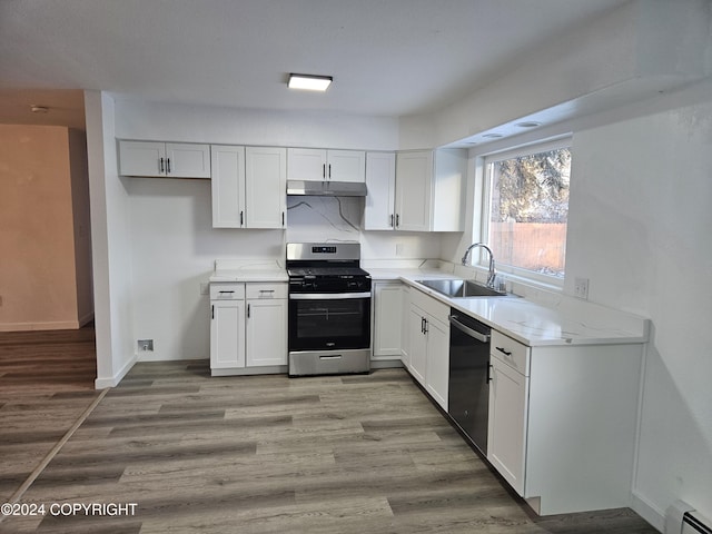
{"label": "white end base cabinet with plain side panel, right of the dishwasher", "polygon": [[537,514],[630,505],[642,354],[493,330],[487,459]]}

